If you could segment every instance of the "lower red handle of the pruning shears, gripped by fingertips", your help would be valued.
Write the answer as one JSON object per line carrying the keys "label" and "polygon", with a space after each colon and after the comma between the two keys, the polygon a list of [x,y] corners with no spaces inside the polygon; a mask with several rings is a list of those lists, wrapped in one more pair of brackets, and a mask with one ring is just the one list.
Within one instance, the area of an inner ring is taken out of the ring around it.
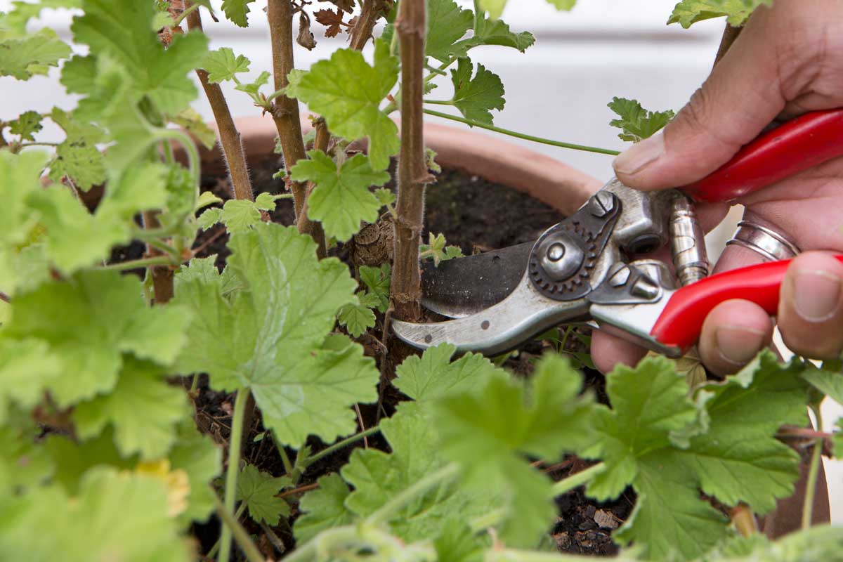
{"label": "lower red handle of the pruning shears, gripped by fingertips", "polygon": [[[843,263],[843,255],[835,258]],[[781,281],[790,262],[771,261],[723,271],[680,288],[670,297],[650,335],[684,351],[699,340],[702,322],[711,309],[732,298],[752,301],[774,316],[779,308]]]}

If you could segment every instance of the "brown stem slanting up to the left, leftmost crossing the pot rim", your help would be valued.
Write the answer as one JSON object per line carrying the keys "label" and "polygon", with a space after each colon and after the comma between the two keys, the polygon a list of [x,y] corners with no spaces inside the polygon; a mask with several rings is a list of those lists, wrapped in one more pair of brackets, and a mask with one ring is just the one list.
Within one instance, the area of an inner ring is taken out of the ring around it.
{"label": "brown stem slanting up to the left, leftmost crossing the pot rim", "polygon": [[[202,17],[199,10],[193,10],[187,14],[187,29],[202,30]],[[219,84],[209,83],[208,73],[201,68],[196,69],[196,76],[199,77],[199,82],[205,89],[205,95],[213,111],[213,118],[217,121],[219,143],[223,147],[223,157],[228,163],[228,174],[231,176],[234,198],[255,201],[249,169],[246,167],[243,142],[240,141],[240,133],[234,126],[234,119],[231,111],[228,110],[228,102],[223,95],[223,89],[219,87]]]}

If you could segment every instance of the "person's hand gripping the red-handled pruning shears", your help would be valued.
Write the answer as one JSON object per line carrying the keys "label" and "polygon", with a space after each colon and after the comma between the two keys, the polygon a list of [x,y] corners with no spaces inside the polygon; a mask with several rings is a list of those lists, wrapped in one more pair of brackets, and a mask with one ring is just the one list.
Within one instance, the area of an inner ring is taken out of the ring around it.
{"label": "person's hand gripping the red-handled pruning shears", "polygon": [[[667,189],[705,177],[772,120],[843,107],[843,4],[776,0],[759,8],[706,83],[664,130],[615,159],[615,173],[640,190]],[[843,251],[843,158],[793,175],[736,201],[744,220],[770,227],[803,250]],[[706,212],[701,206],[701,213]],[[762,261],[728,246],[715,272]],[[793,260],[777,314],[797,354],[835,356],[843,348],[843,265],[828,254]],[[749,301],[722,302],[706,318],[699,351],[706,367],[726,374],[770,345],[773,324]],[[603,333],[592,339],[595,365],[635,363],[644,351]]]}

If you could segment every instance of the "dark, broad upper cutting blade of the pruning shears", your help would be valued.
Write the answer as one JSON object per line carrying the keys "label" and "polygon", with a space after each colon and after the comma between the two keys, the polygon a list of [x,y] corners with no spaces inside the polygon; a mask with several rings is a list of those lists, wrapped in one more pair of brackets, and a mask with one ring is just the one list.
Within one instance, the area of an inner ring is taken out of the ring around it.
{"label": "dark, broad upper cutting blade of the pruning shears", "polygon": [[513,292],[527,270],[534,242],[422,265],[421,304],[448,318],[464,318]]}

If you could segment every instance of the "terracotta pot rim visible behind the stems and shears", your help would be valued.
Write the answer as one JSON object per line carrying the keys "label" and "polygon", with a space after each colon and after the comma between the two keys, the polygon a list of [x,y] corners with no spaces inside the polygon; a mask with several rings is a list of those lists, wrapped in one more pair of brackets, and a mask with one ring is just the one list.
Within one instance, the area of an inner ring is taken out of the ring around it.
{"label": "terracotta pot rim visible behind the stems and shears", "polygon": [[[277,132],[268,116],[240,117],[235,122],[247,158],[260,162],[273,155]],[[305,132],[310,130],[307,117],[303,117],[302,127]],[[558,160],[493,136],[433,123],[425,124],[424,133],[425,145],[436,151],[437,163],[443,168],[462,169],[492,183],[513,187],[564,215],[576,211],[603,185]],[[200,149],[203,172],[225,172],[219,151],[218,146]]]}

